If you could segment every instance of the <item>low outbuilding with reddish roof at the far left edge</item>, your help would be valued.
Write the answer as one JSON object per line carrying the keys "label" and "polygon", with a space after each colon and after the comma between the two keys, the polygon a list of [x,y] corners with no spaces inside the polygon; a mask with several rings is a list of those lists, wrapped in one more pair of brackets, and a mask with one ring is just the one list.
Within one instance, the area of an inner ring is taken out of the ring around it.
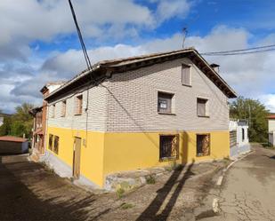
{"label": "low outbuilding with reddish roof at the far left edge", "polygon": [[28,139],[12,136],[0,137],[0,154],[27,154]]}

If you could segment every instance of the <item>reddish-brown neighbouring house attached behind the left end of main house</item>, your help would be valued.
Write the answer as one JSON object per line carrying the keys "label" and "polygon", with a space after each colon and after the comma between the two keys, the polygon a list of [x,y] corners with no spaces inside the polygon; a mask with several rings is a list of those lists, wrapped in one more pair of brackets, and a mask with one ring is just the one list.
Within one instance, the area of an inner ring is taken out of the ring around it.
{"label": "reddish-brown neighbouring house attached behind the left end of main house", "polygon": [[[46,83],[40,91],[43,94],[43,98],[61,87],[62,84],[64,82]],[[47,102],[43,100],[42,107],[33,108],[29,111],[29,114],[34,116],[31,159],[39,161],[40,156],[45,153],[44,134],[46,129]]]}

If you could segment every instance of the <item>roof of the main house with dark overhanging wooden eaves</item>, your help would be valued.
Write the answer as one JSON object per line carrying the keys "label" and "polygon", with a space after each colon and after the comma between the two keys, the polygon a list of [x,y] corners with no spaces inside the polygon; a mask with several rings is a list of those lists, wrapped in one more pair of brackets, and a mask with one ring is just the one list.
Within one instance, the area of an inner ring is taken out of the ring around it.
{"label": "roof of the main house with dark overhanging wooden eaves", "polygon": [[81,83],[91,81],[91,77],[96,78],[97,75],[111,75],[111,73],[121,73],[127,70],[146,67],[157,63],[165,62],[172,59],[181,59],[188,57],[195,63],[202,72],[218,87],[228,98],[237,98],[237,93],[222,79],[222,77],[211,67],[205,59],[194,48],[187,48],[178,51],[166,51],[161,53],[153,53],[142,56],[129,57],[125,59],[102,60],[93,65],[92,69],[85,69],[74,78],[64,83],[60,88],[53,91],[44,99],[54,99],[63,93],[69,92],[73,88],[79,87]]}

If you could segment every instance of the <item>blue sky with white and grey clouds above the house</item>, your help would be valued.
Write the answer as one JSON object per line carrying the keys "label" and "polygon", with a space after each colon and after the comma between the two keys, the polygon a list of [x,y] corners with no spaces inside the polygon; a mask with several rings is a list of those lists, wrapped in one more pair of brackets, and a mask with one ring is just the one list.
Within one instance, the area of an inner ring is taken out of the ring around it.
{"label": "blue sky with white and grey clouds above the house", "polygon": [[[199,52],[275,43],[273,0],[72,0],[92,63],[185,47]],[[69,80],[85,59],[66,0],[0,1],[0,109],[42,104],[47,82]],[[275,51],[208,56],[239,96],[275,112]]]}

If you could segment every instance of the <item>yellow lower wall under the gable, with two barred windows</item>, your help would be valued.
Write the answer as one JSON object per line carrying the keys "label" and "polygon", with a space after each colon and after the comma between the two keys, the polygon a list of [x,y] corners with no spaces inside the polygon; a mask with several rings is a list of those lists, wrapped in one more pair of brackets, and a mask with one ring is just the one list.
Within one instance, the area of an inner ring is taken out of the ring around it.
{"label": "yellow lower wall under the gable, with two barred windows", "polygon": [[165,166],[171,161],[159,161],[159,134],[179,134],[179,160],[195,162],[222,159],[230,154],[229,131],[199,131],[210,133],[210,155],[197,157],[197,132],[106,133],[104,145],[104,174],[122,170]]}

